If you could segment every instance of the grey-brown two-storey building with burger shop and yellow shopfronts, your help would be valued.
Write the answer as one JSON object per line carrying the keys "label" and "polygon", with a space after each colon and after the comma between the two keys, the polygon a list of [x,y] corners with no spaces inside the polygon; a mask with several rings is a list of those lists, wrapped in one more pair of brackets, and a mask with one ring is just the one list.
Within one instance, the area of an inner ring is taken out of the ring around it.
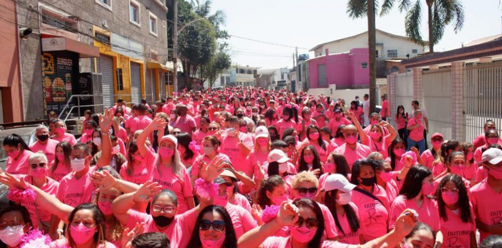
{"label": "grey-brown two-storey building with burger shop and yellow shopfronts", "polygon": [[33,30],[19,42],[25,120],[67,112],[75,94],[97,95],[70,102],[99,105],[96,111],[118,98],[153,103],[166,96],[165,2],[19,0],[14,8],[19,27]]}

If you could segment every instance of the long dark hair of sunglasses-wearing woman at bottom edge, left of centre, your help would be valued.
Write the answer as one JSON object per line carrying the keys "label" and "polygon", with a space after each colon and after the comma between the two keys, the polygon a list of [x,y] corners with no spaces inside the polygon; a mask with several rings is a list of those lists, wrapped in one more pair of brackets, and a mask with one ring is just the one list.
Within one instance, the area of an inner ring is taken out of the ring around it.
{"label": "long dark hair of sunglasses-wearing woman at bottom edge, left of centre", "polygon": [[223,247],[225,248],[235,248],[237,247],[237,237],[235,235],[235,231],[233,230],[232,219],[230,218],[230,214],[226,211],[222,206],[217,205],[209,205],[204,207],[202,211],[200,211],[199,216],[197,216],[197,220],[195,221],[195,228],[192,232],[192,237],[190,238],[190,242],[187,247],[202,247],[202,243],[199,237],[199,227],[200,221],[202,221],[202,216],[204,216],[207,212],[218,212],[223,216],[223,221],[225,221],[225,241],[223,242]]}

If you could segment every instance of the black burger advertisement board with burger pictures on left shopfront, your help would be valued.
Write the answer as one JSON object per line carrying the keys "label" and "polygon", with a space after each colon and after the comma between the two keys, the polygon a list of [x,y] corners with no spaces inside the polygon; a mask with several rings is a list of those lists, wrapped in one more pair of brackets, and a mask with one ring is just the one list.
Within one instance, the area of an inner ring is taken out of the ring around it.
{"label": "black burger advertisement board with burger pictures on left shopfront", "polygon": [[42,54],[42,87],[46,116],[51,111],[59,115],[63,110],[72,95],[75,75],[78,75],[77,54],[71,52]]}

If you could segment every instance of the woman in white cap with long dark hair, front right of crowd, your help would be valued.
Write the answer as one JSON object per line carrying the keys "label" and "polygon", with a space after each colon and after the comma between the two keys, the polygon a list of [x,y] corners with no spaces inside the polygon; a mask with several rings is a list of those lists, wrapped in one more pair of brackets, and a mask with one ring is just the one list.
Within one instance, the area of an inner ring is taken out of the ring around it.
{"label": "woman in white cap with long dark hair, front right of crowd", "polygon": [[362,235],[365,232],[364,225],[360,221],[358,207],[351,202],[352,189],[355,187],[340,174],[328,176],[324,186],[323,202],[333,216],[336,235],[339,237],[338,241],[342,243],[364,243]]}

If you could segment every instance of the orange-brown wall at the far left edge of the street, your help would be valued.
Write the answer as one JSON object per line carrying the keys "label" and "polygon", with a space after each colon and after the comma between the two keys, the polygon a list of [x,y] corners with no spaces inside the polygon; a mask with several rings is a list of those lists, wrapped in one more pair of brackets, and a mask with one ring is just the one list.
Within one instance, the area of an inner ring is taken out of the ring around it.
{"label": "orange-brown wall at the far left edge of the street", "polygon": [[13,1],[0,0],[0,9],[9,13],[0,19],[0,87],[4,107],[4,121],[23,121],[23,95],[21,92],[21,68],[19,63],[16,6]]}

